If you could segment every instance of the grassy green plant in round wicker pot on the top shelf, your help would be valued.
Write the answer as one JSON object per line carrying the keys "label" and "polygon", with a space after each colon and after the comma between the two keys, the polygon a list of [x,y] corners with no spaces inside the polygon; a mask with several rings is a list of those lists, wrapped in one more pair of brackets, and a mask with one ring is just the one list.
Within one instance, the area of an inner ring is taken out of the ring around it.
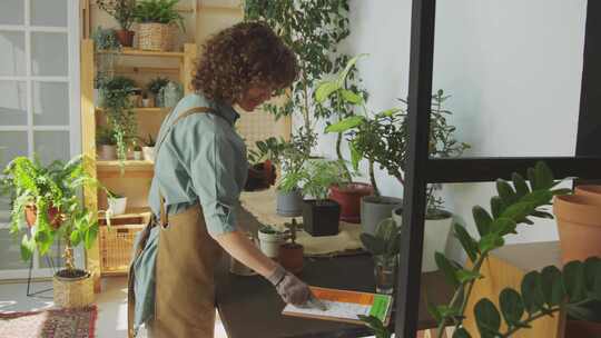
{"label": "grassy green plant in round wicker pot on the top shelf", "polygon": [[171,24],[177,23],[181,30],[184,18],[175,6],[179,0],[142,0],[134,11],[139,22],[139,47],[142,50],[166,51],[170,49]]}

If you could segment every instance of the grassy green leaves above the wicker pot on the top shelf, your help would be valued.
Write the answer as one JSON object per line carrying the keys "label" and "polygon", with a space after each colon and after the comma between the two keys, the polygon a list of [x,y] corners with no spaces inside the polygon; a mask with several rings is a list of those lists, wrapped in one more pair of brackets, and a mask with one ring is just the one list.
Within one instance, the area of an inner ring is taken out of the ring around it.
{"label": "grassy green leaves above the wicker pot on the top shelf", "polygon": [[177,12],[179,0],[142,0],[134,10],[136,21],[141,23],[177,23],[185,31],[184,18]]}

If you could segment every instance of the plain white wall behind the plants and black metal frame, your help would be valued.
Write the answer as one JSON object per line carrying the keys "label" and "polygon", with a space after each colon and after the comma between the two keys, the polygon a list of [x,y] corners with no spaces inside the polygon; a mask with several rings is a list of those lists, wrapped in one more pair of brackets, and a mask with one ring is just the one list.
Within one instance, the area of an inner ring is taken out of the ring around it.
{"label": "plain white wall behind the plants and black metal frame", "polygon": [[[439,0],[434,89],[453,98],[447,108],[469,156],[571,156],[580,101],[587,1]],[[352,0],[352,36],[345,49],[367,52],[359,62],[370,107],[390,108],[406,97],[411,0]],[[331,137],[318,150],[334,153]],[[378,172],[386,195],[402,196]],[[471,208],[487,206],[490,183],[447,185],[447,208],[473,233]],[[511,242],[556,239],[554,221],[539,221]]]}

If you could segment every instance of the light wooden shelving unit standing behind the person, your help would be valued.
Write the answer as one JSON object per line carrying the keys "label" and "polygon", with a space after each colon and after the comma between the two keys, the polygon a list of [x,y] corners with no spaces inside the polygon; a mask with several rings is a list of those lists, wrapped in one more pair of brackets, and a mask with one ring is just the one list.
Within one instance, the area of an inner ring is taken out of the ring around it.
{"label": "light wooden shelving unit standing behind the person", "polygon": [[[100,52],[102,53],[102,52]],[[150,77],[167,77],[184,84],[185,93],[190,83],[196,59],[196,44],[187,43],[181,52],[155,52],[124,49],[115,67],[116,74],[125,74],[139,84]],[[147,160],[97,160],[96,131],[105,123],[102,109],[93,105],[95,51],[91,40],[81,41],[81,108],[82,148],[88,160],[86,169],[111,191],[127,197],[126,213],[111,217],[111,227],[106,227],[107,197],[102,191],[88,189],[85,201],[90,210],[98,212],[101,225],[97,243],[87,251],[88,269],[99,281],[100,276],[126,275],[135,235],[150,219],[147,196],[154,176],[154,162]],[[134,108],[138,136],[157,138],[158,130],[169,108]],[[99,290],[99,282],[97,282]]]}

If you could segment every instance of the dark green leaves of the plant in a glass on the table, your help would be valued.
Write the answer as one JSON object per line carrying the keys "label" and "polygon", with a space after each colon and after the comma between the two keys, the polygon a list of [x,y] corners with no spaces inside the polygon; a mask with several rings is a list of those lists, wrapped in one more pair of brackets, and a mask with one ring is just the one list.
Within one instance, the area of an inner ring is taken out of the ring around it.
{"label": "dark green leaves of the plant in a glass on the table", "polygon": [[361,242],[373,256],[394,257],[401,250],[401,227],[391,218],[377,225],[376,233],[361,233]]}

